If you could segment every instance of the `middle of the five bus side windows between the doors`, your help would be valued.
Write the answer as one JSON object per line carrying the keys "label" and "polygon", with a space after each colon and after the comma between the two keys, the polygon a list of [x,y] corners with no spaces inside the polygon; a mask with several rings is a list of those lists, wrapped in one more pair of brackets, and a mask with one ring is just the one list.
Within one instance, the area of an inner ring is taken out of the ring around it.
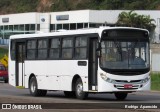
{"label": "middle of the five bus side windows between the doors", "polygon": [[49,44],[49,58],[58,59],[59,58],[59,48],[60,48],[60,40],[58,38],[51,39]]}

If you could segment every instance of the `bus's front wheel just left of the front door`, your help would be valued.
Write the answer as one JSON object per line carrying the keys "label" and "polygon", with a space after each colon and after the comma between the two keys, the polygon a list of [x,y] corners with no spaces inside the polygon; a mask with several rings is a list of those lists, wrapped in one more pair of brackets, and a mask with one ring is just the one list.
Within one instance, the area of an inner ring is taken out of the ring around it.
{"label": "bus's front wheel just left of the front door", "polygon": [[83,91],[83,84],[80,78],[76,81],[75,93],[78,99],[85,99],[88,96],[88,93]]}

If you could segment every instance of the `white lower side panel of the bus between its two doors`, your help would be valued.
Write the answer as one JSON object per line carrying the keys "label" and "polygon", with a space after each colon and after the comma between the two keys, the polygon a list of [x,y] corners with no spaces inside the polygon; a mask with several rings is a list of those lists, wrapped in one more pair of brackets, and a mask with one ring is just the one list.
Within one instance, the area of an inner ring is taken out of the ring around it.
{"label": "white lower side panel of the bus between its two doors", "polygon": [[[87,60],[83,61],[88,63]],[[88,90],[88,64],[78,66],[78,60],[31,60],[25,61],[25,68],[25,81],[29,80],[31,74],[34,74],[37,78],[38,89],[71,91],[72,79],[74,75],[79,75],[85,82],[84,90]],[[27,83],[25,87],[28,88]]]}

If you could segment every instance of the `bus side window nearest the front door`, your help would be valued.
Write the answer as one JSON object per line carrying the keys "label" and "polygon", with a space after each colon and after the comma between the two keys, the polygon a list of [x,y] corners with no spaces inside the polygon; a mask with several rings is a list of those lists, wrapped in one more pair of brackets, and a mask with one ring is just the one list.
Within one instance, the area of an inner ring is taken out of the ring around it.
{"label": "bus side window nearest the front door", "polygon": [[77,37],[75,42],[75,58],[86,59],[87,57],[87,37]]}

